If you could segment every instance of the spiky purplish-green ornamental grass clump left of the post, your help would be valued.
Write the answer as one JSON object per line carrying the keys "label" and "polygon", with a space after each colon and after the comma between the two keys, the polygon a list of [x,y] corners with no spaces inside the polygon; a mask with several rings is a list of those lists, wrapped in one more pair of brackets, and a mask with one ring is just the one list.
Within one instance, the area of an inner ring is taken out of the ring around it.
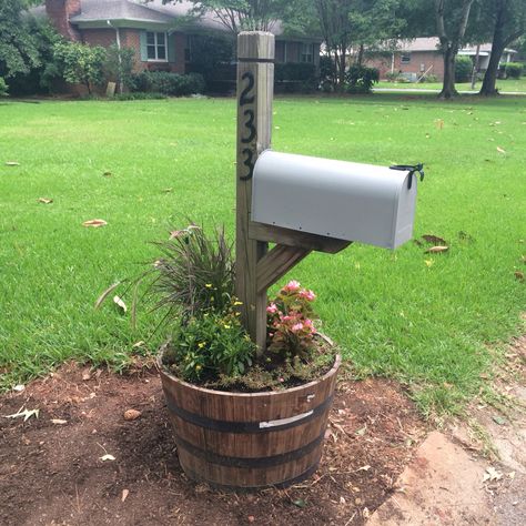
{"label": "spiky purplish-green ornamental grass clump left of the post", "polygon": [[161,257],[155,260],[151,293],[168,316],[183,321],[204,313],[224,313],[234,297],[234,260],[223,230],[209,236],[191,224],[172,232],[171,240],[155,243]]}

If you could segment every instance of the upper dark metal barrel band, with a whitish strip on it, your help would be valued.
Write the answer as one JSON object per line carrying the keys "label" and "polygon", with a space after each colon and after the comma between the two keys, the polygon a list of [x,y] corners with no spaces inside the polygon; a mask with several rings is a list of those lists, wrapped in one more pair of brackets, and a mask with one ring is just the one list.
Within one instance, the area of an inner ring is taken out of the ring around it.
{"label": "upper dark metal barrel band, with a whitish strip on it", "polygon": [[269,431],[284,431],[290,429],[291,427],[296,427],[303,425],[307,422],[320,416],[325,409],[327,409],[333,401],[333,395],[324,399],[320,405],[311,409],[308,413],[305,413],[305,417],[294,419],[291,422],[291,418],[283,418],[283,424],[279,424],[279,421],[272,426],[263,426],[261,422],[229,422],[229,421],[218,421],[214,418],[209,418],[206,416],[201,416],[190,411],[183,409],[182,407],[173,404],[171,399],[166,397],[166,406],[171,413],[179,416],[190,424],[194,424],[200,427],[205,427],[206,429],[219,431],[221,433],[267,433]]}

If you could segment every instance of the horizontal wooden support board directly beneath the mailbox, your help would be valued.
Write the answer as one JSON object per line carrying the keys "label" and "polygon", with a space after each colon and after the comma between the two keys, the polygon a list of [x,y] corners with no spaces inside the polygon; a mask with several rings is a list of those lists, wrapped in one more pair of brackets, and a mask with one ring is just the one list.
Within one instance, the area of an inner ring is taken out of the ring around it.
{"label": "horizontal wooden support board directly beneath the mailbox", "polygon": [[271,224],[256,223],[249,224],[249,236],[253,240],[279,243],[287,246],[297,246],[311,251],[336,254],[346,249],[352,241],[336,240],[324,235],[310,234],[297,230],[284,229]]}

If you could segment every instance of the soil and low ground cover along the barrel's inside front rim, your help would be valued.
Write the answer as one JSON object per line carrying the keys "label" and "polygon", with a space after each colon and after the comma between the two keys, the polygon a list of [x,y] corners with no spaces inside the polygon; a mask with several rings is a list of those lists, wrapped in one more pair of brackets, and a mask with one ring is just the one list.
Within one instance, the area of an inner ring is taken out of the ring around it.
{"label": "soil and low ground cover along the barrel's inside front rim", "polygon": [[[328,373],[337,354],[337,348],[326,340],[316,337],[314,342],[316,345],[307,360],[296,358],[281,363],[272,353],[267,353],[266,360],[256,363],[243,375],[222,375],[219,378],[204,376],[201,382],[192,382],[192,384],[232,393],[262,393],[306,384]],[[178,365],[173,363],[170,355],[170,347],[166,347],[162,363],[169,373],[181,377]]]}

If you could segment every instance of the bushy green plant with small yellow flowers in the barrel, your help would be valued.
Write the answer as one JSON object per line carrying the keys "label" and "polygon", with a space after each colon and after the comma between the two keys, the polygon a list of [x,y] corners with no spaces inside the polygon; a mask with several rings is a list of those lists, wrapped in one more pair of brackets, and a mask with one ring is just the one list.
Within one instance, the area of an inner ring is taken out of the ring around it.
{"label": "bushy green plant with small yellow flowers in the barrel", "polygon": [[244,374],[252,365],[255,345],[236,314],[234,307],[204,313],[175,327],[163,363],[189,382]]}

